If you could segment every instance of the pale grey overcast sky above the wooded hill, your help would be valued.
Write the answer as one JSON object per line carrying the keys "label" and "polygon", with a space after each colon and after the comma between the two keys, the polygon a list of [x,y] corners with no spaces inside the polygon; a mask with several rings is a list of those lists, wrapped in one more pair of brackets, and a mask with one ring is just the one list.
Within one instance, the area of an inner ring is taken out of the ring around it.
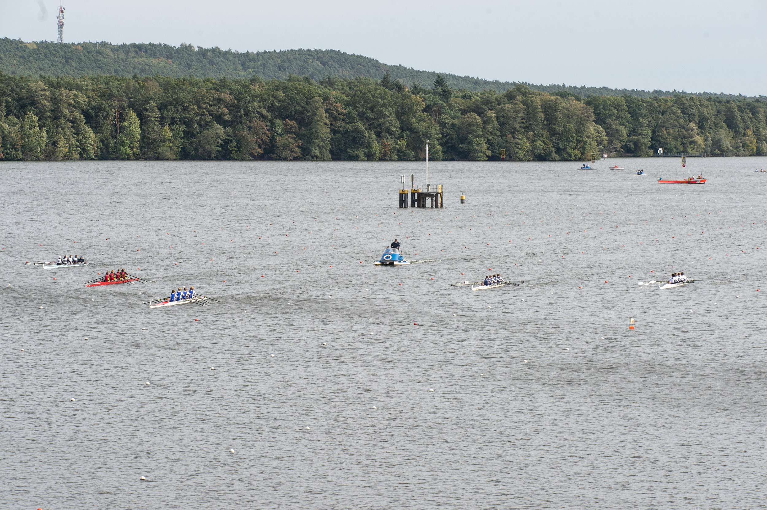
{"label": "pale grey overcast sky above the wooded hill", "polygon": [[[64,0],[64,41],[321,48],[489,80],[767,95],[767,0]],[[0,0],[0,37],[56,39],[58,0]]]}

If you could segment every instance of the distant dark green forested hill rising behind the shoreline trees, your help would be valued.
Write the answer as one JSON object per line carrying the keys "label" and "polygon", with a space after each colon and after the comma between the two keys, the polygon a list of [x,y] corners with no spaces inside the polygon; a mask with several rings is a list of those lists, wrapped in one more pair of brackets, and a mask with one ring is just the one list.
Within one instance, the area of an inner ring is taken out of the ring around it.
{"label": "distant dark green forested hill rising behind the shoreline trees", "polygon": [[[431,87],[436,72],[415,70],[400,65],[382,64],[373,58],[347,54],[335,50],[286,50],[286,51],[239,51],[222,50],[218,47],[193,47],[182,44],[109,44],[82,42],[57,44],[54,42],[29,42],[16,39],[0,39],[0,71],[5,74],[39,77],[114,75],[118,77],[163,76],[250,79],[254,75],[266,79],[285,80],[289,75],[308,76],[314,81],[325,77],[353,78],[357,76],[380,80],[387,72],[393,80],[401,80],[410,87],[417,83]],[[505,92],[516,82],[482,80],[479,78],[444,74],[449,87],[454,90],[495,90]],[[671,96],[676,91],[626,90],[607,87],[570,87],[565,85],[527,85],[532,90],[557,93],[567,92],[579,97],[622,96],[637,97]],[[713,94],[695,94],[711,96]],[[737,96],[717,95],[734,99]]]}

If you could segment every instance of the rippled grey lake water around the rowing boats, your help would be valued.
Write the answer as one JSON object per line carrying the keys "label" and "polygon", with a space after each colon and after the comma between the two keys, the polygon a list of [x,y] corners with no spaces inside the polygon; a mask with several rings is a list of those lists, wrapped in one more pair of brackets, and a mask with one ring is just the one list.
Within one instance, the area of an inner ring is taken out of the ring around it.
{"label": "rippled grey lake water around the rowing boats", "polygon": [[0,506],[765,508],[767,159],[580,165],[0,163]]}

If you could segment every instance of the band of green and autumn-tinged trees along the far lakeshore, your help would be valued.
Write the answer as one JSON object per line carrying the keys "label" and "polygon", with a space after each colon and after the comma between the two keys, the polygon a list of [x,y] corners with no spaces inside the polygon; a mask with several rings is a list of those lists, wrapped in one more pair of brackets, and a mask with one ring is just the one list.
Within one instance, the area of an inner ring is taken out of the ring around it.
{"label": "band of green and autumn-tinged trees along the far lakeshore", "polygon": [[581,160],[592,153],[767,155],[762,100],[504,93],[310,77],[0,73],[0,159]]}

